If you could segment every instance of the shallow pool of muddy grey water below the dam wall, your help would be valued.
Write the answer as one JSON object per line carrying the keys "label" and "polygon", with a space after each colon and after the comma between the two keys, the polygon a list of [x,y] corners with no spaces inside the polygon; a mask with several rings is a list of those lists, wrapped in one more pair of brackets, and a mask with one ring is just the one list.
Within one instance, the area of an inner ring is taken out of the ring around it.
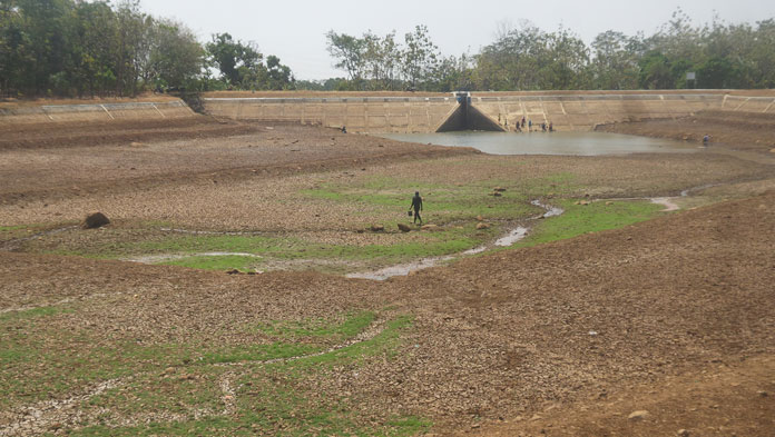
{"label": "shallow pool of muddy grey water below the dam wall", "polygon": [[697,145],[605,132],[443,132],[385,133],[399,141],[472,147],[491,155],[625,155],[697,152]]}

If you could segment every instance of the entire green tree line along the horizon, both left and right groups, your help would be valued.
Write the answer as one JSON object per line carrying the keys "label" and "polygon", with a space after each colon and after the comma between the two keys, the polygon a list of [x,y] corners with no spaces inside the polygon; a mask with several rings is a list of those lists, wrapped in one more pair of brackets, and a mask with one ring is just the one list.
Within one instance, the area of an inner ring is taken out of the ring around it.
{"label": "entire green tree line along the horizon, both left and right groups", "polygon": [[[425,26],[399,38],[325,34],[345,77],[295,80],[276,56],[229,33],[202,43],[138,0],[0,0],[0,97],[136,96],[148,90],[576,90],[775,88],[775,20],[693,24],[680,10],[654,34],[503,26],[478,53],[443,56]],[[687,73],[694,73],[687,75]],[[691,79],[694,77],[694,79]]]}

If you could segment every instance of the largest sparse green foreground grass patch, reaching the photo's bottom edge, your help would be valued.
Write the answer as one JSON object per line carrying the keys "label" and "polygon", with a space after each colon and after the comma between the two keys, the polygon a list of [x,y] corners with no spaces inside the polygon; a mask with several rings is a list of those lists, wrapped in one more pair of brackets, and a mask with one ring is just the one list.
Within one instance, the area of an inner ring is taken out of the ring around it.
{"label": "largest sparse green foreground grass patch, reaching the photo's bottom edge", "polygon": [[[350,315],[342,324],[310,320],[271,325],[279,336],[352,337],[370,325],[375,315],[362,311]],[[91,399],[86,408],[108,408],[128,417],[144,417],[149,411],[176,413],[188,419],[151,423],[131,427],[95,424],[69,430],[75,436],[150,436],[150,435],[273,435],[273,436],[413,436],[432,424],[415,416],[392,416],[382,425],[365,423],[359,416],[357,400],[321,396],[306,381],[321,376],[330,366],[357,364],[371,356],[396,354],[401,332],[412,318],[389,321],[374,338],[315,357],[278,364],[251,364],[233,380],[236,411],[216,416],[224,408],[219,378],[228,368],[213,366],[180,367],[174,371],[147,374],[126,387],[110,389]],[[194,411],[210,411],[195,418]],[[105,417],[109,420],[110,416]]]}

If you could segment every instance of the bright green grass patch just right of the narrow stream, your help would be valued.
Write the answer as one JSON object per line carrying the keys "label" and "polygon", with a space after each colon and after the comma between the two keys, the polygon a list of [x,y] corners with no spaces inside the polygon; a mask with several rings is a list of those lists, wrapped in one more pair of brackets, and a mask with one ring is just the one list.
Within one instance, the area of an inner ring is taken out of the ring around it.
{"label": "bright green grass patch just right of the narrow stream", "polygon": [[660,205],[642,201],[602,201],[576,205],[572,200],[552,201],[565,212],[559,217],[541,220],[522,241],[512,247],[530,247],[543,242],[573,238],[583,234],[618,229],[651,219],[659,215]]}

